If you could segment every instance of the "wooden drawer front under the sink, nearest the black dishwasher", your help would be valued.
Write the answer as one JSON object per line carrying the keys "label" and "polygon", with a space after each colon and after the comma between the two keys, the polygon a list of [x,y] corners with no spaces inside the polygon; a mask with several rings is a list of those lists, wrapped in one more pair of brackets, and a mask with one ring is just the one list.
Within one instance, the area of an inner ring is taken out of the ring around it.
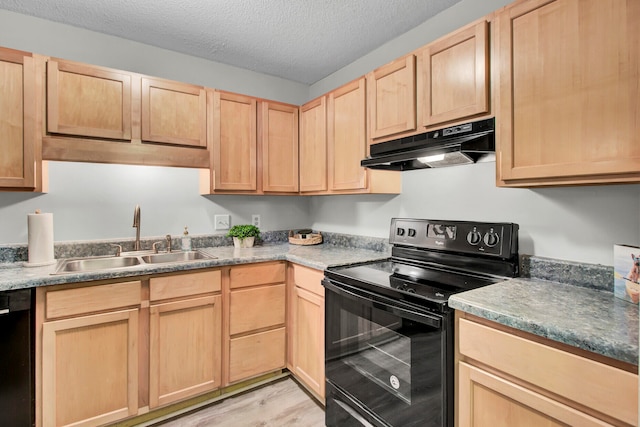
{"label": "wooden drawer front under the sink, nearest the black dishwasher", "polygon": [[140,305],[140,281],[49,291],[47,319]]}

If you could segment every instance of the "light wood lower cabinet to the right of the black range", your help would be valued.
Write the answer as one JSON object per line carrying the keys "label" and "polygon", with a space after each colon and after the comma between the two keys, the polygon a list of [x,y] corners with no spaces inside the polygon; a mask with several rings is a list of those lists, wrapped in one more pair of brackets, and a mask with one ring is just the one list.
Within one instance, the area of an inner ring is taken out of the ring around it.
{"label": "light wood lower cabinet to the right of the black range", "polygon": [[459,427],[637,425],[633,367],[467,317],[457,329]]}

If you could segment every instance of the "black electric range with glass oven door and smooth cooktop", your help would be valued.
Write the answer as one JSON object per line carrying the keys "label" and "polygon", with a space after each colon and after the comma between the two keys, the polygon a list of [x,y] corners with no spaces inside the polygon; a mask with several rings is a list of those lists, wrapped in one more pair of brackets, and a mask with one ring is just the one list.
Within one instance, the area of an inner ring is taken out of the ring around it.
{"label": "black electric range with glass oven door and smooth cooktop", "polygon": [[518,225],[395,218],[391,257],[325,270],[327,427],[452,427],[451,295],[518,275]]}

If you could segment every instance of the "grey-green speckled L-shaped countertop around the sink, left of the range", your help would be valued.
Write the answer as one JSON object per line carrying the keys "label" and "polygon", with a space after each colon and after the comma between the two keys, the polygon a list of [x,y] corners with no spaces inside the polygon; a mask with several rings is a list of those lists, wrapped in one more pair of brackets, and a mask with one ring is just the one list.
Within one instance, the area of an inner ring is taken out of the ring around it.
{"label": "grey-green speckled L-shaped countertop around the sink, left of the range", "polygon": [[386,251],[340,247],[325,243],[314,246],[276,243],[246,249],[220,246],[205,247],[200,250],[217,258],[187,263],[142,264],[123,269],[56,275],[52,274],[56,269],[55,264],[44,267],[25,267],[23,262],[4,263],[0,264],[0,291],[277,260],[291,261],[324,270],[330,266],[356,264],[389,257]]}

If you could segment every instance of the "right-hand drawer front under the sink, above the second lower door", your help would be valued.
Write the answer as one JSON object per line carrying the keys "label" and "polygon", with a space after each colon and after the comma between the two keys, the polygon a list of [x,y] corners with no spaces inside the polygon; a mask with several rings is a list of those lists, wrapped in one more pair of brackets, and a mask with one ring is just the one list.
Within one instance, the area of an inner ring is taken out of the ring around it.
{"label": "right-hand drawer front under the sink, above the second lower door", "polygon": [[219,292],[220,282],[220,270],[154,277],[149,282],[150,299],[157,301]]}

